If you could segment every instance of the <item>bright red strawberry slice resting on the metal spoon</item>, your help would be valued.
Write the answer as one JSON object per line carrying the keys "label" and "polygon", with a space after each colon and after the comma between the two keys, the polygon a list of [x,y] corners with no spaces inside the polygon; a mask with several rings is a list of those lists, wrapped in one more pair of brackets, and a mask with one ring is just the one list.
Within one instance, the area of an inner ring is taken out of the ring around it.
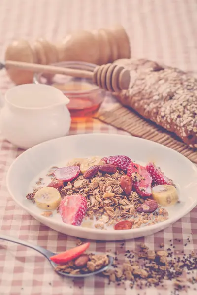
{"label": "bright red strawberry slice resting on the metal spoon", "polygon": [[68,261],[71,261],[77,257],[79,257],[82,253],[84,253],[90,246],[90,243],[85,243],[75,248],[69,249],[60,254],[56,254],[50,257],[50,260],[57,264],[63,264]]}

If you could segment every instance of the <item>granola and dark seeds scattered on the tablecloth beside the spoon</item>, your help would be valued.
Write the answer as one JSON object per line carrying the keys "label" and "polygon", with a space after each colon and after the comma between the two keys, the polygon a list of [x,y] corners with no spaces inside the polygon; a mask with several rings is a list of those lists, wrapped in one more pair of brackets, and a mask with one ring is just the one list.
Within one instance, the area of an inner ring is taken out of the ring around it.
{"label": "granola and dark seeds scattered on the tablecloth beside the spoon", "polygon": [[[137,289],[162,286],[165,288],[167,281],[172,281],[176,291],[197,290],[192,286],[197,284],[197,254],[194,252],[180,256],[174,254],[174,248],[167,251],[150,250],[145,244],[141,244],[139,251],[126,250],[124,260],[117,255],[113,268],[103,272],[108,277],[109,283],[128,286],[136,286]],[[179,293],[175,293],[179,295]]]}

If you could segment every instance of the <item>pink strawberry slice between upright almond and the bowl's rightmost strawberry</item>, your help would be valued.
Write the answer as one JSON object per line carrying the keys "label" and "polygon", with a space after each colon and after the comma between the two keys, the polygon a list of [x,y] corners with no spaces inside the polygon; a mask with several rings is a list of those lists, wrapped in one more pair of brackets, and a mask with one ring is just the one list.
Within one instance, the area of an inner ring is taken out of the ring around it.
{"label": "pink strawberry slice between upright almond and the bowl's rightmost strawberry", "polygon": [[136,174],[136,179],[133,179],[133,187],[138,195],[142,197],[150,196],[152,194],[151,183],[153,181],[150,173],[144,166],[131,162],[127,169],[127,175],[132,177],[132,173]]}

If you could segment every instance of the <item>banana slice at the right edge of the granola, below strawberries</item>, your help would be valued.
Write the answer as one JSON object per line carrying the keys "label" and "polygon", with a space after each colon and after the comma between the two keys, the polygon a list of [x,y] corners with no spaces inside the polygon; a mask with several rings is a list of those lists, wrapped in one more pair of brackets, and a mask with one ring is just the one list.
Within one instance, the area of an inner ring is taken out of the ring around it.
{"label": "banana slice at the right edge of the granola, below strawberries", "polygon": [[157,185],[152,188],[153,199],[162,206],[171,206],[178,201],[178,192],[172,185]]}

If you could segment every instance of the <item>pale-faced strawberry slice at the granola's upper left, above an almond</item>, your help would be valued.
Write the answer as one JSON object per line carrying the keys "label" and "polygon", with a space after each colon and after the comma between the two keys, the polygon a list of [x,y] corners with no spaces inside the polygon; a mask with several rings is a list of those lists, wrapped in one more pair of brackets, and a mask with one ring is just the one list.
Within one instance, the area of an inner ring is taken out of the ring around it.
{"label": "pale-faced strawberry slice at the granola's upper left, above an almond", "polygon": [[63,168],[58,168],[54,171],[56,179],[61,179],[63,181],[71,181],[75,179],[80,173],[80,168],[78,166],[67,166]]}

